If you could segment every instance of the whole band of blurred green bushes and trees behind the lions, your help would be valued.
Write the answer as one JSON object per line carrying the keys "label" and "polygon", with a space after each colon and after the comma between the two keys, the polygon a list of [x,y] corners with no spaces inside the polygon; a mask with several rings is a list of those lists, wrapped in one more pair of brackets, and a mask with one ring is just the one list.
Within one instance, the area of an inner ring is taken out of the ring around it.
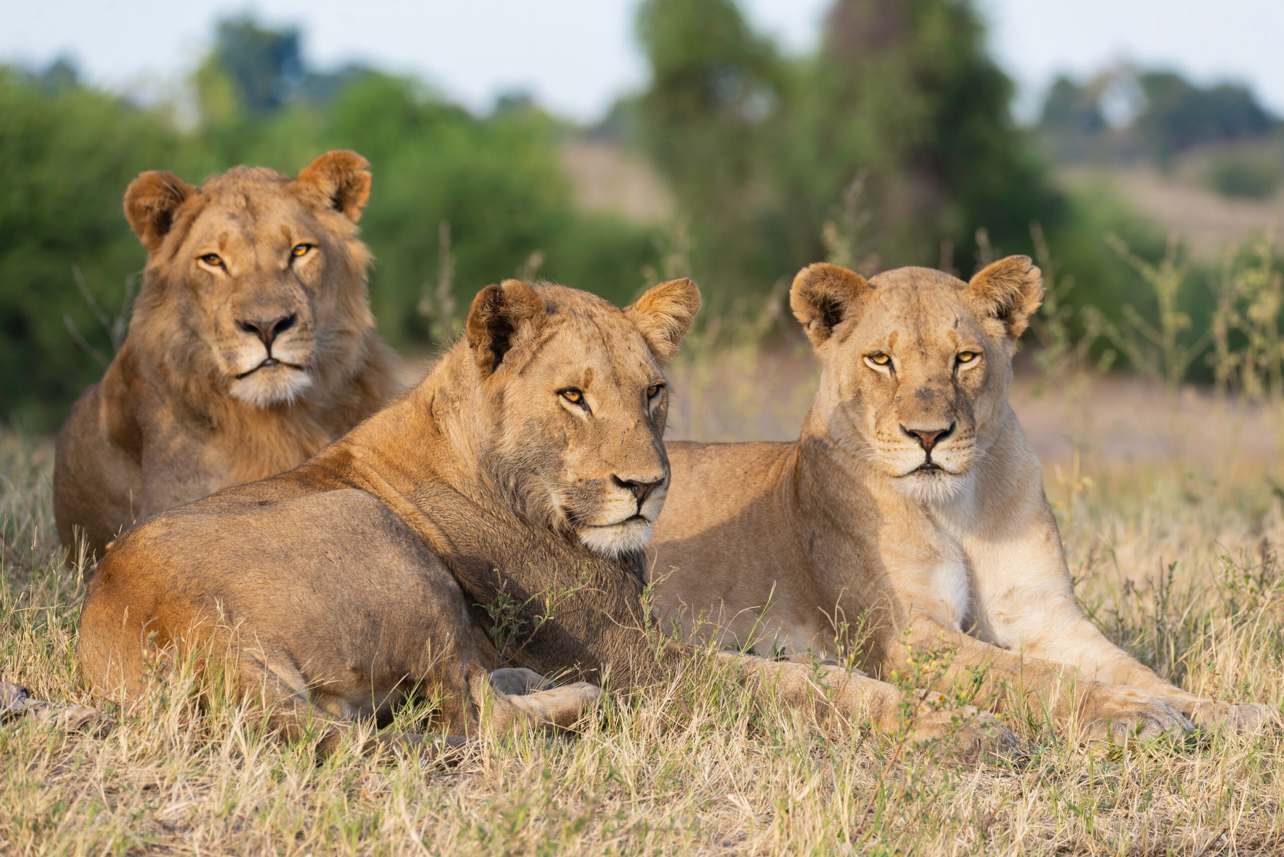
{"label": "whole band of blurred green bushes and trees behind the lions", "polygon": [[[371,298],[403,352],[440,345],[479,287],[519,272],[620,303],[690,273],[725,313],[778,301],[822,258],[967,277],[1035,254],[1032,226],[1075,284],[1067,330],[1086,330],[1088,305],[1116,327],[1134,310],[1207,319],[1219,263],[1184,266],[1161,307],[1134,263],[1163,258],[1163,228],[1109,171],[1141,164],[1258,201],[1284,176],[1279,122],[1249,90],[1162,69],[1061,78],[1037,122],[1018,124],[966,0],[836,0],[802,56],[733,0],[645,0],[651,82],[589,128],[520,92],[476,115],[424,81],[311,68],[302,36],[221,22],[173,103],[86,86],[67,62],[0,68],[0,418],[53,430],[101,373],[144,262],[119,204],[144,169],[199,182],[239,163],[293,174],[327,149],[363,154]],[[632,171],[633,190],[594,195],[602,163]],[[1206,325],[1188,327],[1198,345]]]}

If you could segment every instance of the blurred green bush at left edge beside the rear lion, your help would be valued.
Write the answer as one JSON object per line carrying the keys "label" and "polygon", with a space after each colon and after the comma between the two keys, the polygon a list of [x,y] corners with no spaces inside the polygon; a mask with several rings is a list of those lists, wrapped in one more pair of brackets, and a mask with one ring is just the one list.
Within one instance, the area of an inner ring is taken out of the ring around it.
{"label": "blurred green bush at left edge beside the rear lion", "polygon": [[40,430],[103,371],[64,316],[112,353],[72,266],[103,307],[119,308],[144,258],[121,196],[139,171],[173,165],[178,144],[164,117],[58,71],[0,69],[0,416]]}

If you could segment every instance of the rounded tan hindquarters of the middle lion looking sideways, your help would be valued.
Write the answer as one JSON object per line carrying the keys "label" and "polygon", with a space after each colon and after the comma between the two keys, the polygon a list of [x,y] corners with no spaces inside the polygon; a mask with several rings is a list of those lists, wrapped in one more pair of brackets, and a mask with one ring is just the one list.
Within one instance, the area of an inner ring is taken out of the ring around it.
{"label": "rounded tan hindquarters of the middle lion looking sideways", "polygon": [[[86,680],[109,690],[137,672],[139,641],[164,647],[193,629],[253,617],[265,643],[311,629],[340,647],[369,617],[439,609],[453,581],[428,545],[379,498],[308,490],[291,473],[225,489],[168,509],[107,552],[81,613]],[[422,603],[420,603],[422,602]],[[408,629],[389,626],[384,634]],[[333,639],[331,639],[333,638]],[[128,671],[134,665],[132,671]]]}

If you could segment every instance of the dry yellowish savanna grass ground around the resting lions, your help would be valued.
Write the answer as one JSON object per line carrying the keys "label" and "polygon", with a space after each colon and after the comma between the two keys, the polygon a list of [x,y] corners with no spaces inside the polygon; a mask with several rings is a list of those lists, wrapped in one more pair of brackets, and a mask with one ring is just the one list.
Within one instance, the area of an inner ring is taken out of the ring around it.
{"label": "dry yellowish savanna grass ground around the resting lions", "polygon": [[[809,355],[702,348],[672,377],[670,436],[788,437]],[[1018,377],[1080,599],[1116,643],[1199,694],[1284,706],[1284,423],[1140,381]],[[76,676],[83,568],[56,547],[51,443],[0,441],[0,679],[94,704]],[[177,676],[105,738],[0,725],[0,851],[103,853],[1284,852],[1284,735],[1081,748],[1009,717],[1026,766],[898,735],[823,734],[700,663],[574,736],[524,733],[455,768],[317,762]],[[100,703],[99,703],[100,704]],[[411,727],[422,711],[403,712]]]}

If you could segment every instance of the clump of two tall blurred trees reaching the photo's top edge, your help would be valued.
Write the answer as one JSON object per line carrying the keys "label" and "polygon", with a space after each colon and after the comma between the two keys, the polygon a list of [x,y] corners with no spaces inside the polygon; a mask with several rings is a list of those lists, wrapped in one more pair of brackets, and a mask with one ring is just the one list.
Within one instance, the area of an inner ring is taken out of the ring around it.
{"label": "clump of two tall blurred trees reaching the photo's top edge", "polygon": [[822,258],[856,176],[887,266],[968,269],[978,227],[1018,249],[1030,221],[1063,216],[966,0],[837,0],[802,60],[782,60],[731,0],[647,0],[638,32],[642,137],[714,285],[763,290]]}

